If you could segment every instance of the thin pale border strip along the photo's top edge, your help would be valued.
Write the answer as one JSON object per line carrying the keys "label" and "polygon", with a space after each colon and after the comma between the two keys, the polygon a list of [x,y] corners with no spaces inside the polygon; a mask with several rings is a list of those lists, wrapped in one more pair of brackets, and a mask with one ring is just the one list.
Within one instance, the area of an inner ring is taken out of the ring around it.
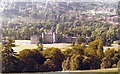
{"label": "thin pale border strip along the photo's top edge", "polygon": [[41,2],[41,1],[82,1],[82,2],[95,2],[95,1],[99,1],[99,2],[118,2],[120,0],[0,0],[0,2]]}

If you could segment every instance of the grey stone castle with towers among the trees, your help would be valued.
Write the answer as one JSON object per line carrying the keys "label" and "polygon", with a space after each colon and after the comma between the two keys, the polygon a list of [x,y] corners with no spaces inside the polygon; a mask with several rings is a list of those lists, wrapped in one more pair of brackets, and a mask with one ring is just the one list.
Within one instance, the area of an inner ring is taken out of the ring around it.
{"label": "grey stone castle with towers among the trees", "polygon": [[41,35],[31,36],[31,44],[37,43],[67,43],[74,42],[76,37],[66,36],[62,37],[60,34],[54,32],[43,32]]}

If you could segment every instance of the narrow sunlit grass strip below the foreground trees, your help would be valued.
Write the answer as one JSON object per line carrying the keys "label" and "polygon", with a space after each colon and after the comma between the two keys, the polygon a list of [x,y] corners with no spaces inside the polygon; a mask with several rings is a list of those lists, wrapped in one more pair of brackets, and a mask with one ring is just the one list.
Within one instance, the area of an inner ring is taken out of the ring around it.
{"label": "narrow sunlit grass strip below the foreground trees", "polygon": [[[41,72],[36,72],[41,73]],[[120,74],[118,68],[98,69],[98,70],[76,70],[76,71],[58,71],[43,72],[42,74]]]}

